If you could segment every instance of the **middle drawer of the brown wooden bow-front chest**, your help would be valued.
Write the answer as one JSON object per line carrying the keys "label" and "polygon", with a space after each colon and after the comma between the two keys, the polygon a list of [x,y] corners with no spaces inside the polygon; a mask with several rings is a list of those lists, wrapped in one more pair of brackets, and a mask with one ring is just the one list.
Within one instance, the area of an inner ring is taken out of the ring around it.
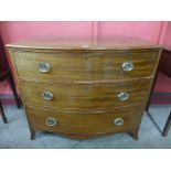
{"label": "middle drawer of the brown wooden bow-front chest", "polygon": [[150,81],[118,84],[21,84],[24,101],[56,110],[110,110],[145,104]]}

